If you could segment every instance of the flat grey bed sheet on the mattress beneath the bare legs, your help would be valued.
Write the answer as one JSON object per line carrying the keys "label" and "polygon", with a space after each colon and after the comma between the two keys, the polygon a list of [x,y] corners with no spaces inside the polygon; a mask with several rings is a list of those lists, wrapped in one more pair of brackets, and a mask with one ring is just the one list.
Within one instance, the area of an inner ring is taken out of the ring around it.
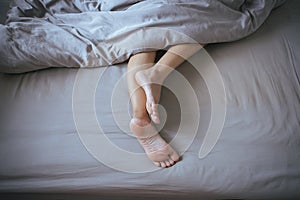
{"label": "flat grey bed sheet on the mattress beneath the bare legs", "polygon": [[[183,114],[189,115],[178,100],[189,98],[176,97],[172,77],[188,80],[197,105],[187,109],[195,108],[197,118],[192,139],[177,140],[187,144],[181,161],[166,169],[150,166],[128,133],[126,62],[1,73],[1,198],[300,198],[299,9],[299,1],[286,1],[255,33],[208,45],[168,78],[161,98],[165,122],[158,127],[163,137],[174,141]],[[2,23],[7,10],[1,1]],[[205,75],[192,64],[199,57]],[[215,85],[207,80],[221,80],[215,90],[221,94],[212,95]],[[224,112],[214,113],[212,98],[225,103]],[[222,129],[201,156],[214,115]]]}

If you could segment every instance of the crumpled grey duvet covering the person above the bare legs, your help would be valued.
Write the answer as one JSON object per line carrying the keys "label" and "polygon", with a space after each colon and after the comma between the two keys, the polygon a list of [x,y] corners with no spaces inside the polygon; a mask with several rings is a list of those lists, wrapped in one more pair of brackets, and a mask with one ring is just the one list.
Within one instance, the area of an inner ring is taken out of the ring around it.
{"label": "crumpled grey duvet covering the person above the bare legs", "polygon": [[101,67],[180,43],[234,41],[284,0],[13,0],[0,72]]}

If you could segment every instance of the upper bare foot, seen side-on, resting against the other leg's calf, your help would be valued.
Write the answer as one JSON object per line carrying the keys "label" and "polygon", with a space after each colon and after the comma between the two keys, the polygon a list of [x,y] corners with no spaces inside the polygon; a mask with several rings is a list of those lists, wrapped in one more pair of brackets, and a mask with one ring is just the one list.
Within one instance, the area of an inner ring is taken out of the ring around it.
{"label": "upper bare foot, seen side-on, resting against the other leg's calf", "polygon": [[151,120],[159,124],[158,102],[160,100],[161,84],[163,80],[152,69],[145,69],[135,74],[137,83],[144,89],[147,101],[146,109]]}

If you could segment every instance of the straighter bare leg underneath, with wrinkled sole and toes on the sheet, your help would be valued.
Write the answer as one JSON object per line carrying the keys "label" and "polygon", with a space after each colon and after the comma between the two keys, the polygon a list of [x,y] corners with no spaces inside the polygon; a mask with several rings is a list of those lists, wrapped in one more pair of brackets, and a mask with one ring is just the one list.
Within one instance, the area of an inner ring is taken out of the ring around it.
{"label": "straighter bare leg underneath, with wrinkled sole and toes on the sheet", "polygon": [[155,52],[133,55],[127,68],[127,84],[130,94],[133,119],[130,122],[131,131],[137,136],[148,158],[159,167],[170,167],[178,161],[178,154],[166,143],[152,126],[146,110],[146,95],[135,79],[135,74],[153,66]]}

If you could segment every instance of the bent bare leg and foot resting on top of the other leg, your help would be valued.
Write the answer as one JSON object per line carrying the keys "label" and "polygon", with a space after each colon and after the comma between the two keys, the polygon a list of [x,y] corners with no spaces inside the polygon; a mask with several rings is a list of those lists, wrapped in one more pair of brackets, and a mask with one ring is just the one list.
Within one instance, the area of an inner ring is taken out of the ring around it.
{"label": "bent bare leg and foot resting on top of the other leg", "polygon": [[173,46],[153,67],[140,70],[136,73],[136,81],[143,87],[146,93],[146,109],[154,123],[160,123],[158,103],[162,83],[176,67],[196,53],[200,48],[201,46],[199,44]]}

